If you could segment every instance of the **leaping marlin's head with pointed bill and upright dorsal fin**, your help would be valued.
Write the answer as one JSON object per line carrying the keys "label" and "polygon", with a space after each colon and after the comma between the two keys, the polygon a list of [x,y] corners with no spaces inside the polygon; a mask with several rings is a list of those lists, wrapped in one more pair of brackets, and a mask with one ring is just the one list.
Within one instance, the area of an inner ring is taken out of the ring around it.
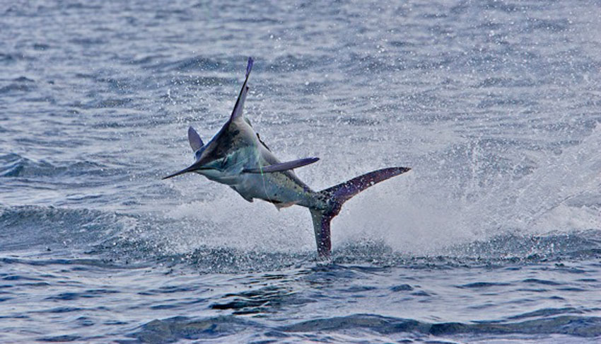
{"label": "leaping marlin's head with pointed bill and upright dorsal fin", "polygon": [[188,141],[194,151],[196,161],[182,171],[173,173],[163,179],[188,172],[196,172],[208,178],[225,178],[228,175],[231,176],[242,171],[244,161],[240,161],[240,157],[244,155],[245,147],[252,146],[255,141],[254,131],[243,118],[244,102],[248,93],[246,84],[250,69],[252,69],[252,62],[249,57],[246,79],[226,124],[207,144],[203,144],[199,134],[192,127],[189,127]]}

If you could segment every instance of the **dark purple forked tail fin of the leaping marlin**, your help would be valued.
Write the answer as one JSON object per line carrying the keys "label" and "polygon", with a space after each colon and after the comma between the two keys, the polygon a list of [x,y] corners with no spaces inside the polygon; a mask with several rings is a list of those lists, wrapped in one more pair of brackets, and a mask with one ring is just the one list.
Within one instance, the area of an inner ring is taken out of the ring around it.
{"label": "dark purple forked tail fin of the leaping marlin", "polygon": [[372,185],[380,183],[383,180],[398,176],[411,170],[407,167],[390,167],[378,171],[372,171],[361,176],[355,177],[342,184],[332,186],[319,192],[327,202],[327,209],[310,209],[313,219],[313,229],[315,229],[315,242],[317,243],[317,254],[322,259],[329,258],[332,251],[332,241],[330,239],[329,222],[340,212],[342,205],[350,200],[354,195],[369,188]]}

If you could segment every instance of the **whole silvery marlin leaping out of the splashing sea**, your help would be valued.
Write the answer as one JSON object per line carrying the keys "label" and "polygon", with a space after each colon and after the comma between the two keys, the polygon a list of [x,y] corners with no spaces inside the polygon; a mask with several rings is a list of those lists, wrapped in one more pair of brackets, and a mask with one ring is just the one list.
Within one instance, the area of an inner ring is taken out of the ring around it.
{"label": "whole silvery marlin leaping out of the splashing sea", "polygon": [[255,198],[265,200],[273,203],[278,210],[292,205],[306,207],[313,219],[317,254],[320,259],[329,259],[332,251],[329,224],[344,202],[366,188],[411,168],[382,168],[332,188],[317,192],[311,190],[293,169],[313,164],[319,159],[279,161],[243,115],[252,63],[249,57],[244,84],[226,124],[206,144],[196,130],[189,127],[188,141],[194,151],[194,164],[163,179],[196,172],[209,180],[230,186],[248,202]]}

